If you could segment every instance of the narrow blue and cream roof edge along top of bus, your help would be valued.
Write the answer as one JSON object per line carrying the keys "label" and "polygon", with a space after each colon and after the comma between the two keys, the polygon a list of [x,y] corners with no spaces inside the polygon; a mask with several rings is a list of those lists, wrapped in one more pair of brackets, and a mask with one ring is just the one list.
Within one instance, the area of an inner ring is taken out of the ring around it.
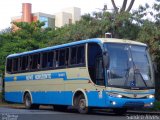
{"label": "narrow blue and cream roof edge along top of bus", "polygon": [[33,54],[33,53],[38,53],[38,52],[42,52],[42,51],[49,51],[49,50],[52,50],[52,49],[64,48],[64,47],[69,47],[69,46],[74,46],[74,45],[79,45],[79,44],[84,44],[84,43],[90,43],[90,42],[95,42],[95,43],[124,43],[124,44],[134,44],[134,45],[147,46],[144,43],[136,42],[136,41],[132,41],[132,40],[115,39],[115,38],[92,38],[92,39],[81,40],[81,41],[66,43],[66,44],[62,44],[62,45],[55,45],[55,46],[51,46],[51,47],[46,47],[46,48],[27,51],[27,52],[22,52],[22,53],[11,54],[11,55],[7,56],[7,58],[21,56],[21,55],[27,55],[27,54]]}

